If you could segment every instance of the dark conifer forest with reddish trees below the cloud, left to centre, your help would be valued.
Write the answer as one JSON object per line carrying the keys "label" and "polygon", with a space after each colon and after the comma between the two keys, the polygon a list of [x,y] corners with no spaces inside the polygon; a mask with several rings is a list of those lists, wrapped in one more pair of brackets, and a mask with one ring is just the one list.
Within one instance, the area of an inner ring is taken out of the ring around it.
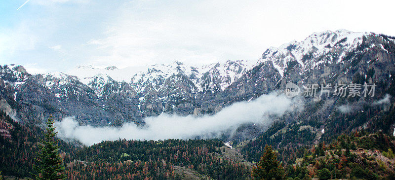
{"label": "dark conifer forest with reddish trees below the cloud, left to centre", "polygon": [[[42,131],[25,127],[4,113],[0,170],[2,175],[32,177],[33,159]],[[182,179],[185,167],[212,179],[248,178],[250,167],[222,155],[218,140],[106,141],[89,147],[59,141],[68,179]]]}

